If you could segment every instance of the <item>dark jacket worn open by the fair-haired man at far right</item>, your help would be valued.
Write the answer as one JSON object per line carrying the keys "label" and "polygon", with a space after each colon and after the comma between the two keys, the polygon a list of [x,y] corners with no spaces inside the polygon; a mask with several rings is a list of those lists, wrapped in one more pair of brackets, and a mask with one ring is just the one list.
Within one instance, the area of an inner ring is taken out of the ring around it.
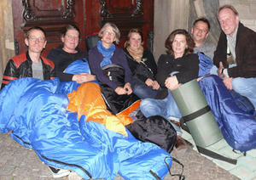
{"label": "dark jacket worn open by the fair-haired man at far right", "polygon": [[[223,31],[213,57],[214,65],[218,67],[219,62],[228,67],[227,37]],[[228,73],[230,77],[256,77],[256,32],[241,23],[236,34],[236,67],[228,68]]]}

